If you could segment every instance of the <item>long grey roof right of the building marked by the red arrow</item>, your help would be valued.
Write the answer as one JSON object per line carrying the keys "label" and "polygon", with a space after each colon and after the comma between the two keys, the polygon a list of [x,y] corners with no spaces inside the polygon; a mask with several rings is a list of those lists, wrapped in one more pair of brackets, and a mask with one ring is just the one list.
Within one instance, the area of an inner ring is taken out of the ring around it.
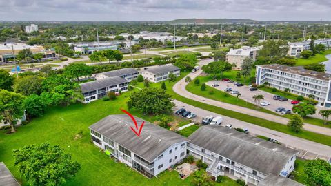
{"label": "long grey roof right of the building marked by the red arrow", "polygon": [[289,158],[299,153],[294,149],[216,125],[200,127],[188,138],[194,145],[267,175],[279,175]]}

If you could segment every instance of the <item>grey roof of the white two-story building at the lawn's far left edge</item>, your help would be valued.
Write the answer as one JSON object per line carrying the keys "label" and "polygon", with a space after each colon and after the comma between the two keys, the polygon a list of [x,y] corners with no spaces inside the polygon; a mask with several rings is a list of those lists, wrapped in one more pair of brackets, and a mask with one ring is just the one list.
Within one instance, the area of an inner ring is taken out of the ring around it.
{"label": "grey roof of the white two-story building at the lawn's far left edge", "polygon": [[108,77],[105,79],[100,79],[97,81],[90,81],[86,83],[81,83],[81,92],[91,92],[93,90],[98,90],[103,87],[110,87],[112,85],[118,85],[121,83],[126,83],[126,79],[123,79],[121,77]]}

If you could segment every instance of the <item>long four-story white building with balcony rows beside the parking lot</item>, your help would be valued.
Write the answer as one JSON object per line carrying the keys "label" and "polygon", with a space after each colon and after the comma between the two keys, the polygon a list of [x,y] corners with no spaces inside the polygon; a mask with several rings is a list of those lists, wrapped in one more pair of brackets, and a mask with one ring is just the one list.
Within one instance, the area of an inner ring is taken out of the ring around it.
{"label": "long four-story white building with balcony rows beside the parking lot", "polygon": [[315,100],[331,107],[331,74],[305,70],[301,66],[257,65],[257,85],[269,84],[279,90],[290,89],[293,94],[307,97],[314,94]]}

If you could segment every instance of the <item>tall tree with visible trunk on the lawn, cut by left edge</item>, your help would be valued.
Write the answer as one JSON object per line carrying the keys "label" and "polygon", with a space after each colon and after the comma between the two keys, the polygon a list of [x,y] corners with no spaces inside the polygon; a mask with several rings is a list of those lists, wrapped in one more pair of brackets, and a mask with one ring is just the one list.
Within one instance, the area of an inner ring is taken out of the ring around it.
{"label": "tall tree with visible trunk on the lawn, cut by left edge", "polygon": [[0,90],[0,121],[8,123],[11,132],[15,132],[14,125],[23,117],[23,100],[21,94]]}

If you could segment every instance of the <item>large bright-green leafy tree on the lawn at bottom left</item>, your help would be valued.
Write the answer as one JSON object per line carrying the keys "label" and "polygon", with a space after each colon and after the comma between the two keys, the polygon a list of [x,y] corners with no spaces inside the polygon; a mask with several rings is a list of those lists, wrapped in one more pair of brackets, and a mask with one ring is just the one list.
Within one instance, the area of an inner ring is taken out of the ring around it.
{"label": "large bright-green leafy tree on the lawn at bottom left", "polygon": [[64,185],[81,168],[59,145],[27,145],[12,154],[14,165],[30,185]]}

